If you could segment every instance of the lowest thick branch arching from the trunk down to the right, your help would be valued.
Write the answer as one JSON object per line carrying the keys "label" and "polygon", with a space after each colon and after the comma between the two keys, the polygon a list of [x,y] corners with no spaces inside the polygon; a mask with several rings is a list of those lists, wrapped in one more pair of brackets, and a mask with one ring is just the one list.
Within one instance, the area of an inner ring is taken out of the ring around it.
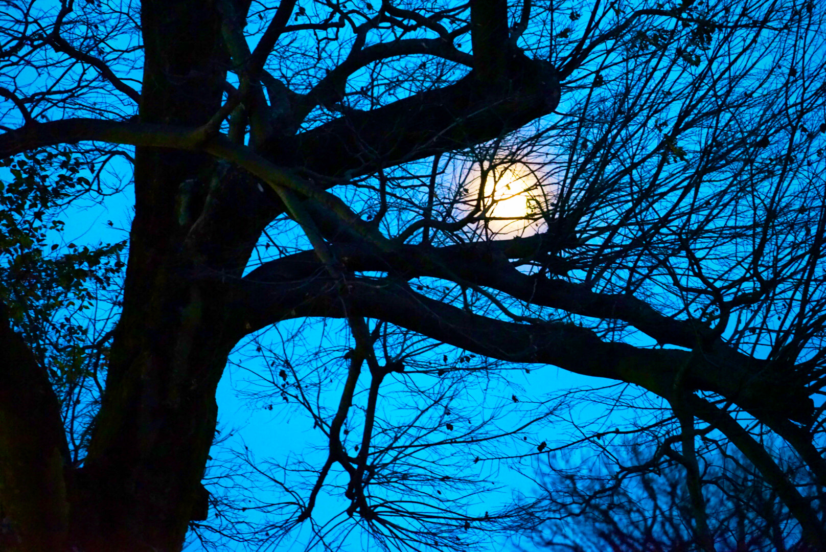
{"label": "lowest thick branch arching from the trunk down to the right", "polygon": [[[235,285],[236,331],[246,333],[296,316],[342,317],[337,283],[325,277],[299,279],[283,264],[281,274],[255,270]],[[303,269],[303,267],[296,267]],[[639,349],[600,340],[593,331],[573,324],[523,325],[478,316],[418,293],[390,279],[356,278],[348,282],[354,313],[387,321],[434,340],[511,362],[553,364],[577,374],[635,383],[671,399],[678,367],[690,352]],[[731,398],[759,416],[777,412],[791,419],[811,415],[803,388],[768,381],[743,365],[721,365],[702,355],[686,383]]]}

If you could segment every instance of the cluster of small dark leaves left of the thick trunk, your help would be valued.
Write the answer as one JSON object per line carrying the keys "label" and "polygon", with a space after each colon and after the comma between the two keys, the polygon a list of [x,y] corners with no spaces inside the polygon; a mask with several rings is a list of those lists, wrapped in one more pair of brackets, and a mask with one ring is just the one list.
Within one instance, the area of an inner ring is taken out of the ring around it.
{"label": "cluster of small dark leaves left of the thick trunk", "polygon": [[61,211],[88,189],[81,157],[38,150],[2,159],[0,301],[58,388],[83,376],[100,290],[119,282],[126,242],[65,244]]}

